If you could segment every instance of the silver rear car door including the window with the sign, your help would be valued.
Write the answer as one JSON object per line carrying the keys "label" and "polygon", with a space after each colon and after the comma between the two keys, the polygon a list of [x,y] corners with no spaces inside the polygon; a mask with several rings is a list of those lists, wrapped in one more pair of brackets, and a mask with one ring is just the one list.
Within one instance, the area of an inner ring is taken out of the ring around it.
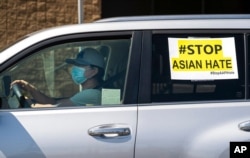
{"label": "silver rear car door including the window with the sign", "polygon": [[171,30],[144,37],[142,65],[151,65],[141,70],[135,157],[227,158],[231,142],[248,142],[244,33]]}

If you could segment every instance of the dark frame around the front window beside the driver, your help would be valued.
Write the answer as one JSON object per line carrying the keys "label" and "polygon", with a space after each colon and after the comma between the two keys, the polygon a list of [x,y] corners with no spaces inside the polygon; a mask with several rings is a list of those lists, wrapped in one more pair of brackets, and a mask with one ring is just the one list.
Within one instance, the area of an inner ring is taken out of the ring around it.
{"label": "dark frame around the front window beside the driver", "polygon": [[[123,104],[118,104],[117,106],[119,107],[128,106],[129,104],[136,105],[137,97],[138,97],[139,70],[140,70],[138,59],[140,59],[141,38],[142,38],[142,33],[140,31],[78,33],[78,34],[57,36],[54,38],[43,40],[43,41],[40,41],[39,43],[31,45],[30,47],[22,50],[21,52],[18,52],[15,56],[5,61],[1,65],[0,73],[4,72],[6,69],[13,66],[18,61],[26,58],[27,56],[32,55],[33,53],[39,52],[42,49],[45,49],[45,48],[48,48],[57,44],[96,39],[98,37],[101,37],[101,39],[115,39],[115,38],[119,39],[119,37],[125,37],[125,36],[131,36],[130,54],[128,56],[129,66],[127,67],[127,75],[126,75],[125,83],[124,83],[124,93],[123,93],[123,95],[125,96],[124,101],[123,101]],[[116,106],[116,105],[110,105],[110,106]],[[94,106],[94,107],[103,107],[103,106]],[[105,107],[107,107],[107,105],[105,105]],[[46,109],[46,108],[42,108],[42,109]]]}

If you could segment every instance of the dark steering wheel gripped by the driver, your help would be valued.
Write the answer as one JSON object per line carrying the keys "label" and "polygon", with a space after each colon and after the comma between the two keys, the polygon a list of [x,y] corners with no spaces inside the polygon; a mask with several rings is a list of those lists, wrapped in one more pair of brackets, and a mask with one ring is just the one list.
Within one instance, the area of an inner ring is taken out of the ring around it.
{"label": "dark steering wheel gripped by the driver", "polygon": [[24,94],[22,93],[21,88],[18,84],[13,84],[12,90],[13,90],[13,94],[16,96],[16,98],[19,102],[20,108],[30,106],[29,103],[26,101]]}

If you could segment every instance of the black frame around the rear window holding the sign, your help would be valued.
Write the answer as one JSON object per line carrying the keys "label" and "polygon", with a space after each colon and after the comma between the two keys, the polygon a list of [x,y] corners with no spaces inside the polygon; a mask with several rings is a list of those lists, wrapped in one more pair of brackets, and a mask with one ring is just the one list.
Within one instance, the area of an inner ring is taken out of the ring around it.
{"label": "black frame around the rear window holding the sign", "polygon": [[[250,37],[250,30],[246,30],[246,29],[229,29],[229,30],[222,30],[222,29],[194,29],[194,30],[190,30],[190,29],[169,29],[169,30],[150,30],[150,31],[144,31],[143,32],[143,45],[142,45],[142,57],[141,57],[141,71],[140,71],[140,78],[142,78],[143,80],[140,80],[140,85],[139,85],[139,94],[138,94],[138,104],[140,106],[140,104],[144,104],[145,103],[147,105],[152,105],[152,99],[151,99],[151,73],[152,73],[152,37],[153,34],[242,34],[244,37],[244,58],[245,58],[245,63],[244,63],[244,67],[245,67],[245,99],[247,99],[247,97],[249,96],[249,90],[246,88],[247,84],[250,82],[248,81],[249,78],[247,77],[247,66],[246,63],[247,61],[247,48],[249,47],[247,45],[247,35],[249,35]],[[248,50],[249,51],[249,50]],[[248,97],[249,98],[249,97]],[[238,101],[243,101],[245,99],[240,99]],[[230,100],[212,100],[213,102],[230,102]],[[182,101],[184,103],[187,102],[207,102],[207,101]],[[154,105],[157,104],[172,104],[173,102],[154,102]],[[178,101],[176,101],[175,103],[178,103]]]}

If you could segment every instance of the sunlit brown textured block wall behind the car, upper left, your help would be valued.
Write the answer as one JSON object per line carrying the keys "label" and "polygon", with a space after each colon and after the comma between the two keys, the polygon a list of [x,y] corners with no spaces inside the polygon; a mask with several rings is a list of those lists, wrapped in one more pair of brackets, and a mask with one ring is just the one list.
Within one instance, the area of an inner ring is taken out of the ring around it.
{"label": "sunlit brown textured block wall behind the car, upper left", "polygon": [[[0,49],[31,32],[78,23],[77,0],[0,0]],[[101,17],[101,0],[84,0],[84,22]]]}

